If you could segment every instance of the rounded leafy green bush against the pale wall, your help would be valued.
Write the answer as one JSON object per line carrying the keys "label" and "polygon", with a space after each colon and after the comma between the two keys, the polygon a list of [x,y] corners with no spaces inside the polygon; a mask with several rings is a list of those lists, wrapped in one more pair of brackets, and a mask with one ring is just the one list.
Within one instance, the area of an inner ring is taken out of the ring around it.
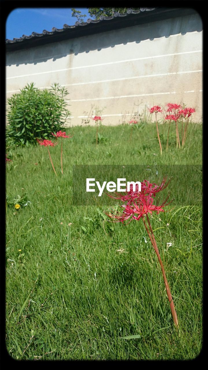
{"label": "rounded leafy green bush against the pale wall", "polygon": [[28,146],[59,131],[70,116],[66,95],[67,90],[56,83],[43,90],[31,83],[8,98],[7,147],[9,143]]}

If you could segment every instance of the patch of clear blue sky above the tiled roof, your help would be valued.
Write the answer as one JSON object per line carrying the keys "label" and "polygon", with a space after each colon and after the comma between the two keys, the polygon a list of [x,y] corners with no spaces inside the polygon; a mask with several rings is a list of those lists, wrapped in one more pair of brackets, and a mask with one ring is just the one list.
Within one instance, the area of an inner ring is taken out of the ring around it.
{"label": "patch of clear blue sky above the tiled roof", "polygon": [[[77,8],[82,14],[87,14],[87,8]],[[8,16],[6,21],[6,38],[29,36],[32,32],[42,33],[43,30],[51,31],[53,27],[63,28],[67,23],[73,26],[77,21],[71,17],[71,8],[17,8]]]}

